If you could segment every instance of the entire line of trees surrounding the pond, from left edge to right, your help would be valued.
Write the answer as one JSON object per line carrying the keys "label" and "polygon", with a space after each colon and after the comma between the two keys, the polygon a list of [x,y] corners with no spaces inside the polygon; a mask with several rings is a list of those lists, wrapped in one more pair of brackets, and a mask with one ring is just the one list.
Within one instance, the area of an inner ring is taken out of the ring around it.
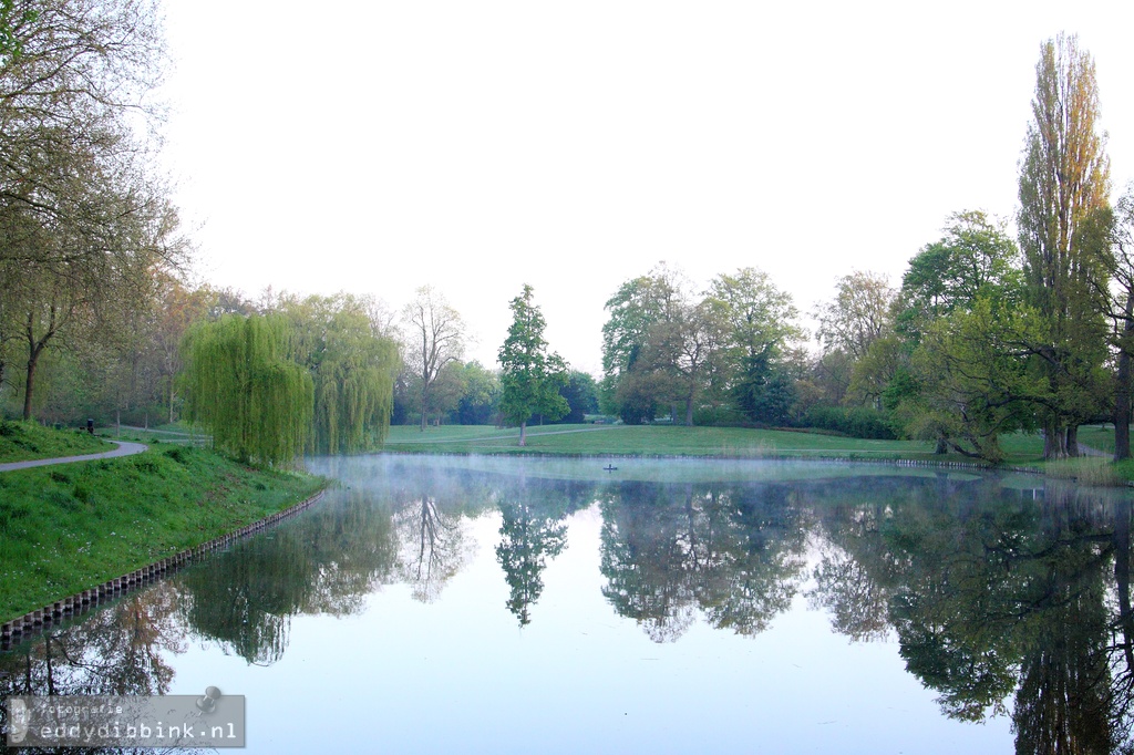
{"label": "entire line of trees surrounding the pond, from left edge to right", "polygon": [[[813,312],[814,354],[790,295],[759,269],[699,288],[661,263],[607,300],[596,381],[550,350],[526,286],[486,366],[465,360],[467,325],[428,286],[395,312],[372,297],[269,289],[253,302],[189,283],[192,249],[138,128],[160,121],[160,32],[147,0],[3,5],[6,415],[191,417],[269,463],[372,448],[390,422],[523,436],[532,422],[599,413],[925,439],[991,461],[1021,430],[1042,431],[1047,458],[1074,456],[1077,427],[1110,419],[1116,456],[1129,456],[1134,188],[1109,204],[1094,62],[1074,36],[1041,45],[1015,234],[957,212],[899,285],[841,277]],[[273,430],[254,441],[217,431],[221,417]]]}

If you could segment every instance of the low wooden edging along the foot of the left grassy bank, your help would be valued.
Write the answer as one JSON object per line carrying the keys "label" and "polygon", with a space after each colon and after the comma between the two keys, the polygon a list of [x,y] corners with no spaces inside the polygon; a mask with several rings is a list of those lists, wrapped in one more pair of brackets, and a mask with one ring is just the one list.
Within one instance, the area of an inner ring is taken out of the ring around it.
{"label": "low wooden edging along the foot of the left grassy bank", "polygon": [[62,621],[65,617],[81,616],[99,605],[100,602],[105,602],[108,600],[126,595],[127,593],[143,587],[151,582],[155,582],[161,577],[171,575],[175,571],[189,566],[194,561],[212,553],[213,551],[222,550],[238,540],[266,529],[272,525],[279,524],[284,519],[295,516],[319,501],[319,499],[323,497],[324,492],[325,491],[319,491],[305,501],[301,501],[293,507],[284,509],[282,511],[269,515],[259,521],[253,521],[245,527],[240,527],[236,532],[221,535],[220,537],[214,537],[208,543],[202,543],[201,545],[186,549],[176,555],[160,559],[149,566],[142,567],[141,569],[122,575],[121,577],[108,579],[91,589],[84,589],[69,597],[44,605],[42,609],[28,611],[18,619],[7,621],[0,626],[0,650],[8,650],[14,643],[17,643],[33,634],[43,631],[52,623]]}

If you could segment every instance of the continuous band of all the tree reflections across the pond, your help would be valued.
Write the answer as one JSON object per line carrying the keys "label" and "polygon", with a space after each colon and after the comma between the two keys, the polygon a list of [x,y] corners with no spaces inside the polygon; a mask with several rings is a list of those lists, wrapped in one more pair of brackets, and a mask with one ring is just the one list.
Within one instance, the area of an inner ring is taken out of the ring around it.
{"label": "continuous band of all the tree reflections across the pond", "polygon": [[662,484],[406,466],[0,654],[0,695],[163,694],[194,637],[273,663],[295,614],[358,613],[400,582],[435,600],[472,557],[466,519],[490,509],[507,609],[525,626],[568,517],[598,501],[602,594],[654,642],[699,619],[758,635],[810,580],[836,633],[896,638],[947,715],[1010,715],[1021,753],[1134,750],[1126,493],[947,474]]}

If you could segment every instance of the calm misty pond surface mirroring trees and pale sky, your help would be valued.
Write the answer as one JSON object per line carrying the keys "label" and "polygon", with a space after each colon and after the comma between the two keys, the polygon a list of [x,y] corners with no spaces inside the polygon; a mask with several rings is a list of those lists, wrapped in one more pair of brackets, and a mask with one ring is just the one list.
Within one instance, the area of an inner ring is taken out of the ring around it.
{"label": "calm misty pond surface mirroring trees and pale sky", "polygon": [[247,698],[257,753],[1108,752],[1131,503],[782,463],[315,459],[341,484],[0,654],[2,694]]}

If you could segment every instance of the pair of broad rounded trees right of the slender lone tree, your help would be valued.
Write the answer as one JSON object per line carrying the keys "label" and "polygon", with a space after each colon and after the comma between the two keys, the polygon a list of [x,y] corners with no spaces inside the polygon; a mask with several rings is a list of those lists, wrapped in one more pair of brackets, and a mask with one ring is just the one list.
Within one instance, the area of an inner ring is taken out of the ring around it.
{"label": "pair of broad rounded trees right of the slender lone tree", "polygon": [[718,275],[700,297],[665,263],[626,281],[607,302],[603,408],[628,424],[659,412],[693,424],[785,424],[793,359],[803,331],[792,298],[753,268]]}

